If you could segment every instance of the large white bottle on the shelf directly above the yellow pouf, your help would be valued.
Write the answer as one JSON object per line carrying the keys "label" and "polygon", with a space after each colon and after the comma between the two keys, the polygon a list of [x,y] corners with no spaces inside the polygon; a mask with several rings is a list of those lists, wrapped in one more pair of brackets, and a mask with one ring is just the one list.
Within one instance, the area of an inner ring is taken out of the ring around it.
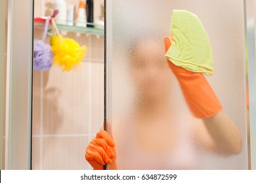
{"label": "large white bottle on the shelf directly above the yellow pouf", "polygon": [[56,24],[67,24],[67,3],[65,0],[54,0],[54,10],[59,10],[59,13],[55,17]]}

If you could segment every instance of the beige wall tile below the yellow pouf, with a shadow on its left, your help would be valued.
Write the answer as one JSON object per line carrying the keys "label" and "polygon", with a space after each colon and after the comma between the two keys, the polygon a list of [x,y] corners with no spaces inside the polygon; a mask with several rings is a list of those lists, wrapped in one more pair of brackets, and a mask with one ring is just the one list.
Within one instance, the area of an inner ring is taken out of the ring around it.
{"label": "beige wall tile below the yellow pouf, with a shadow on its left", "polygon": [[88,133],[88,64],[74,71],[53,67],[44,93],[44,134]]}

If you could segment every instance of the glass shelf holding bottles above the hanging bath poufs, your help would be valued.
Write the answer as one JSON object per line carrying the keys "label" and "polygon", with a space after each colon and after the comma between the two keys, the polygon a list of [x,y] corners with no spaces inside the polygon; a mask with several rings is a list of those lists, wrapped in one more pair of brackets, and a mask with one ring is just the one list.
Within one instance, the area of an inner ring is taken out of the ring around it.
{"label": "glass shelf holding bottles above the hanging bath poufs", "polygon": [[[44,22],[34,22],[34,29],[43,30],[44,27],[45,27]],[[57,24],[57,27],[59,31],[104,36],[104,29],[98,29],[94,27],[77,27],[75,25],[61,25],[61,24]],[[52,35],[52,24],[49,24],[48,35]]]}

